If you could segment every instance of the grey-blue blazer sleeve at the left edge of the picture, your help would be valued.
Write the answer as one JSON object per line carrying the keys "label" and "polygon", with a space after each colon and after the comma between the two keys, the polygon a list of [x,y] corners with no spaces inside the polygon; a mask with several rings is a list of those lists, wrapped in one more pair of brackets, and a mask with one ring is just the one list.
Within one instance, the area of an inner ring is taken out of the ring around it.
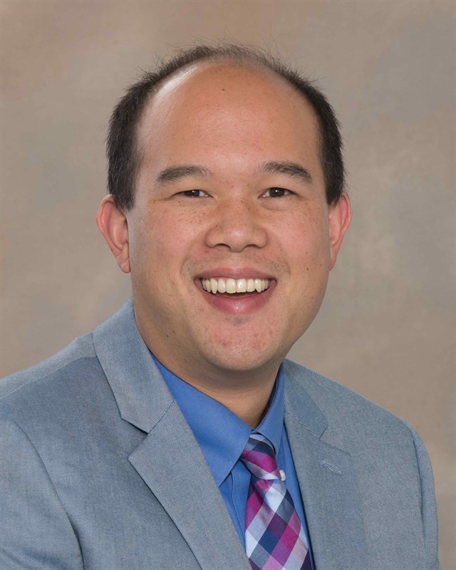
{"label": "grey-blue blazer sleeve at the left edge of the picture", "polygon": [[78,538],[33,443],[0,424],[0,568],[82,570]]}

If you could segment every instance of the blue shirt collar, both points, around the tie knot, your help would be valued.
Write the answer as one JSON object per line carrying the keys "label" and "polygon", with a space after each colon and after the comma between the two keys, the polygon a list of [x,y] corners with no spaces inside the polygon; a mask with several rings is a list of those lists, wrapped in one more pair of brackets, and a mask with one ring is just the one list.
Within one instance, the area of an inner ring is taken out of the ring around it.
{"label": "blue shirt collar, both points, around the tie knot", "polygon": [[[153,355],[152,355],[153,356]],[[192,429],[218,486],[231,472],[252,431],[259,432],[279,452],[284,425],[284,370],[279,368],[269,409],[256,430],[232,411],[169,371],[157,361],[160,373]]]}

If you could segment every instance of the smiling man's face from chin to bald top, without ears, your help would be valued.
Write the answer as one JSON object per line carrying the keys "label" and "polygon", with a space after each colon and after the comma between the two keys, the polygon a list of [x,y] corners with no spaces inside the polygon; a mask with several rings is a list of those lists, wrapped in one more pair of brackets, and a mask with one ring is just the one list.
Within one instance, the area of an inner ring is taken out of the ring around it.
{"label": "smiling man's face from chin to bald top, without ears", "polygon": [[200,66],[154,95],[138,141],[125,215],[142,337],[195,383],[276,371],[338,250],[314,112],[269,72]]}

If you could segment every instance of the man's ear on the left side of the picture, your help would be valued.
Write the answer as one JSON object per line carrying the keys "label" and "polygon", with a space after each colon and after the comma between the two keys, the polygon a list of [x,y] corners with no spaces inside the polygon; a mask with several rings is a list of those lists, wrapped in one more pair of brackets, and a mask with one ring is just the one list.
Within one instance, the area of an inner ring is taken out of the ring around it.
{"label": "man's ear on the left side of the picture", "polygon": [[117,264],[124,273],[130,273],[127,218],[115,202],[113,195],[103,198],[96,217],[98,229],[103,234]]}

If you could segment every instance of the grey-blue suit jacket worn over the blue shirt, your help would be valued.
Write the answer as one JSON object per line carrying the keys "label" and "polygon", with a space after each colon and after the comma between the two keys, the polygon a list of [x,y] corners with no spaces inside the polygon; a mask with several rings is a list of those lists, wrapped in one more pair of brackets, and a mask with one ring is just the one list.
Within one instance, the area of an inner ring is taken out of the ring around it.
{"label": "grey-blue suit jacket worn over the blue shirt", "polygon": [[[285,424],[316,570],[437,570],[412,427],[286,361]],[[4,570],[250,570],[128,302],[1,385]]]}

